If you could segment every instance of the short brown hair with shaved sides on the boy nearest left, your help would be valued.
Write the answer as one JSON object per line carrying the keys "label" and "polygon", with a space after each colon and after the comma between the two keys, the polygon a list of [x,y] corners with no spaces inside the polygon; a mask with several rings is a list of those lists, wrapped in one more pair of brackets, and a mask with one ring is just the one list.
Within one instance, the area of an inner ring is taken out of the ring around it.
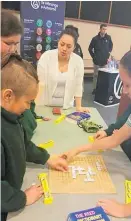
{"label": "short brown hair with shaved sides on the boy nearest left", "polygon": [[18,54],[7,54],[1,62],[1,90],[11,89],[18,97],[26,94],[33,83],[38,84],[38,75],[34,67]]}

